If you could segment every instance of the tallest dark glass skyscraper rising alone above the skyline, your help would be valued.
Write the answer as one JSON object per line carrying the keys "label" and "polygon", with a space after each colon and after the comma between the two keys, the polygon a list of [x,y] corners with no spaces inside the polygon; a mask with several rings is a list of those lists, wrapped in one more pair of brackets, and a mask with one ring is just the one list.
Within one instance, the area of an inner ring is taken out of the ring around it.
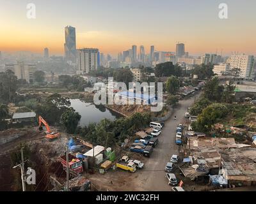
{"label": "tallest dark glass skyscraper rising alone above the skyline", "polygon": [[76,63],[76,28],[68,25],[65,27],[65,59]]}

